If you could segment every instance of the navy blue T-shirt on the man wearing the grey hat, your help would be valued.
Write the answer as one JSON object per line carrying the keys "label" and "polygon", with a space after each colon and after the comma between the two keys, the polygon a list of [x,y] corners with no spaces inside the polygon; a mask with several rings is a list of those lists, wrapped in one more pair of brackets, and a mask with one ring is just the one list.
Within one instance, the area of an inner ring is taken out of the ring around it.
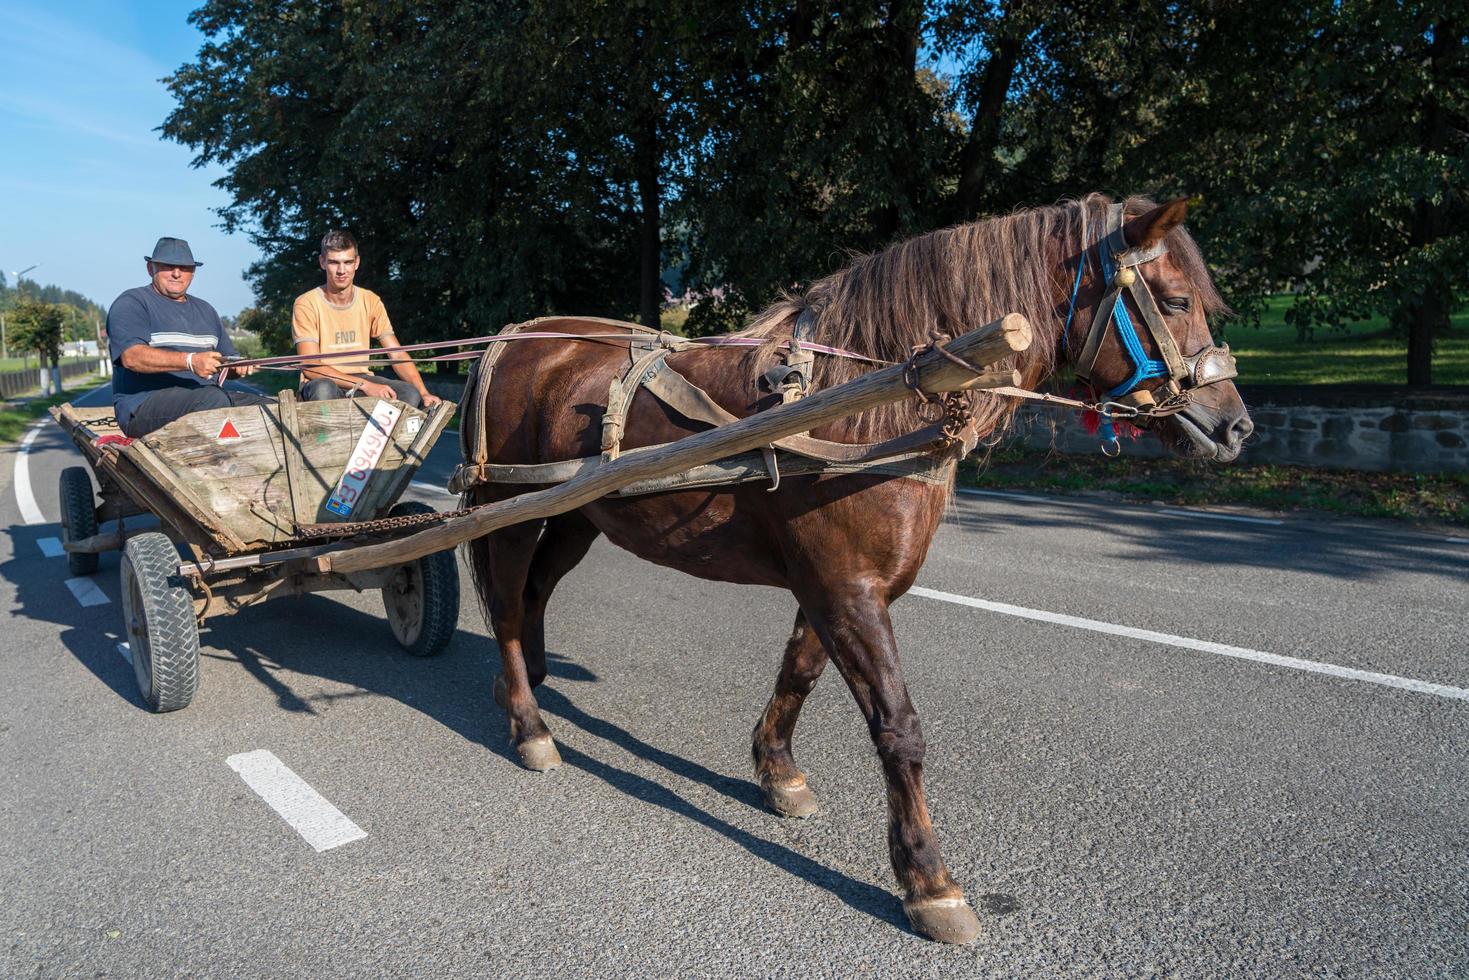
{"label": "navy blue T-shirt on the man wearing the grey hat", "polygon": [[107,345],[112,348],[112,410],[123,429],[142,400],[162,388],[203,388],[210,383],[191,370],[144,375],[122,366],[122,353],[145,344],[166,351],[200,353],[217,350],[235,356],[214,307],[191,295],[175,303],[151,285],[128,289],[107,310]]}

